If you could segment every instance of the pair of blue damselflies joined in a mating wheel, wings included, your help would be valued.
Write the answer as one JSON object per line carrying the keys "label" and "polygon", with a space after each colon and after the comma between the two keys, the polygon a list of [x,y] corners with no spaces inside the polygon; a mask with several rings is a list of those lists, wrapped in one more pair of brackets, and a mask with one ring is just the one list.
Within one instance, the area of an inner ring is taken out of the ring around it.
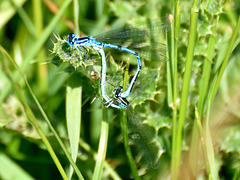
{"label": "pair of blue damselflies joined in a mating wheel, wings included", "polygon": [[[112,30],[97,36],[87,36],[87,37],[76,37],[75,34],[70,33],[66,40],[66,43],[71,47],[70,52],[63,53],[63,58],[65,61],[76,63],[75,67],[78,67],[78,63],[85,63],[84,61],[90,57],[88,47],[92,47],[96,52],[99,53],[101,58],[101,96],[104,99],[103,104],[106,107],[114,107],[117,109],[130,109],[131,117],[128,119],[131,129],[135,129],[134,134],[138,136],[138,143],[142,150],[144,150],[145,158],[149,160],[149,164],[154,166],[158,164],[158,156],[161,153],[156,152],[153,147],[150,146],[150,138],[154,136],[153,133],[149,133],[144,127],[144,124],[141,123],[136,118],[136,115],[132,113],[132,109],[129,108],[129,97],[133,93],[133,88],[136,83],[136,80],[141,72],[143,60],[146,60],[145,63],[149,61],[164,62],[167,61],[166,53],[168,51],[166,42],[166,32],[168,26],[161,22],[161,20],[151,20],[141,23],[136,23],[134,25],[126,25],[123,28]],[[134,56],[135,62],[137,65],[136,71],[131,78],[131,81],[123,91],[121,85],[118,85],[117,88],[114,88],[112,94],[109,96],[106,93],[106,77],[107,77],[107,61],[105,56],[105,49],[114,49],[119,53],[127,54],[128,56]],[[61,52],[57,52],[58,54]],[[145,64],[144,63],[144,64]],[[155,76],[153,75],[152,80],[154,81]],[[145,82],[146,83],[146,82]],[[140,86],[146,86],[146,84],[141,84]],[[136,95],[137,96],[137,95]],[[139,140],[140,139],[140,140]]]}

